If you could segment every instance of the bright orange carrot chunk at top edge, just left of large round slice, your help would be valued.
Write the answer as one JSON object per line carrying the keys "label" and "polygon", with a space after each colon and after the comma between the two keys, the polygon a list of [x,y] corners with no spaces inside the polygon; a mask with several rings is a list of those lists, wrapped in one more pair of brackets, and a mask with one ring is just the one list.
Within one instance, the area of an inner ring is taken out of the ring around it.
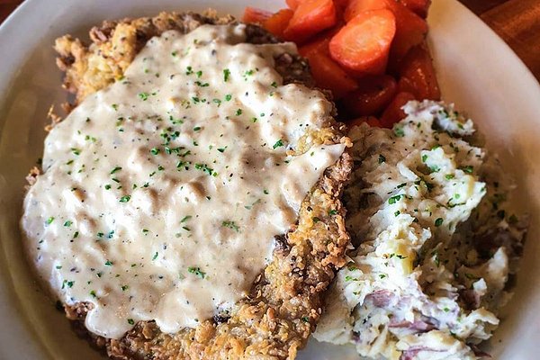
{"label": "bright orange carrot chunk at top edge, just left of large round slice", "polygon": [[336,7],[332,0],[303,0],[284,30],[284,39],[303,42],[334,26],[336,21]]}

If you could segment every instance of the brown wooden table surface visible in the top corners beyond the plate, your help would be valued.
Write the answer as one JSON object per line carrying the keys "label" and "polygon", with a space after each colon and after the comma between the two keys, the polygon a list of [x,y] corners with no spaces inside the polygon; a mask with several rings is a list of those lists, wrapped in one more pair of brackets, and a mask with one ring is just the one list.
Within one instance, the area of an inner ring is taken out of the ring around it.
{"label": "brown wooden table surface visible in the top corners beyond the plate", "polygon": [[[540,0],[459,1],[497,32],[540,80]],[[22,2],[0,0],[0,23]]]}

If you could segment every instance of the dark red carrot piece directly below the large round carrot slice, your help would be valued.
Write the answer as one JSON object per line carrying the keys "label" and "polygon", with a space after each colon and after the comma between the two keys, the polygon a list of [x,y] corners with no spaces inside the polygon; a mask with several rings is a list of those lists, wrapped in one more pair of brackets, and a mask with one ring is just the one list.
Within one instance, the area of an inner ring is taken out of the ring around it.
{"label": "dark red carrot piece directly below the large round carrot slice", "polygon": [[347,94],[342,103],[355,117],[379,114],[392,101],[397,88],[392,76],[365,76],[358,80],[358,88]]}

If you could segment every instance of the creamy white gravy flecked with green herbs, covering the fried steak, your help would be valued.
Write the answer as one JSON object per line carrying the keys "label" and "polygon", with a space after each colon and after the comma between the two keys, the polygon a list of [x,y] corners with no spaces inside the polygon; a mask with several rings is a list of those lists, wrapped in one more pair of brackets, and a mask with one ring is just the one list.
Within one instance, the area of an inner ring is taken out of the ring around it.
{"label": "creamy white gravy flecked with green herbs, covering the fried steak", "polygon": [[274,58],[292,43],[243,40],[244,25],[149,40],[45,140],[25,247],[62,302],[94,304],[95,334],[120,338],[139,320],[173,333],[232,309],[343,152],[287,156],[331,105],[282,84]]}

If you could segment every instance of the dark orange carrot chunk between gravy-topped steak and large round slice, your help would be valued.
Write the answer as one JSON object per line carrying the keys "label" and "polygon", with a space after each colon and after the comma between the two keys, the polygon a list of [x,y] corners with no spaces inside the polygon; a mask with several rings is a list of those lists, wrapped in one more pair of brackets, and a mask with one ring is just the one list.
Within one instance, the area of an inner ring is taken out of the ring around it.
{"label": "dark orange carrot chunk between gravy-topped steak and large round slice", "polygon": [[330,90],[335,99],[354,91],[358,86],[356,81],[348,76],[329,55],[320,51],[311,51],[306,57],[310,62],[311,75],[316,85]]}

